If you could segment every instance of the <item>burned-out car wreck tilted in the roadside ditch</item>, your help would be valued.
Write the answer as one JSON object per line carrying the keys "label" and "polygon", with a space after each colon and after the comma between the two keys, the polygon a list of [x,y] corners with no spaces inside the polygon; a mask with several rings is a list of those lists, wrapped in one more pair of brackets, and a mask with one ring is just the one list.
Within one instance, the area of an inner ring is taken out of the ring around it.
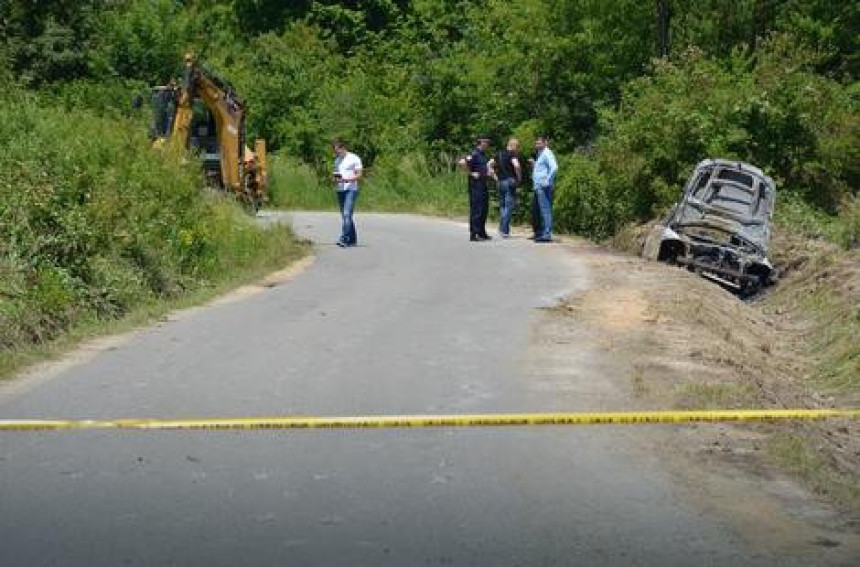
{"label": "burned-out car wreck tilted in the roadside ditch", "polygon": [[773,272],[767,247],[775,197],[773,180],[757,167],[703,160],[680,202],[648,235],[643,255],[751,295]]}

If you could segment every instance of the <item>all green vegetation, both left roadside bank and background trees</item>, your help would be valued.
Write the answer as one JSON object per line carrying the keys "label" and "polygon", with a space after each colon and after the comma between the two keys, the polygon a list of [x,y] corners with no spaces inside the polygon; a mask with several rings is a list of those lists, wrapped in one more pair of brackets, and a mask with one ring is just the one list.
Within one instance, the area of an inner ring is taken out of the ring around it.
{"label": "all green vegetation, both left roadside bank and background trees", "polygon": [[[193,168],[139,151],[129,107],[189,50],[248,99],[277,206],[331,206],[343,137],[367,166],[365,209],[459,214],[453,164],[476,133],[526,151],[547,133],[562,231],[660,215],[719,156],[774,177],[782,226],[860,242],[856,3],[7,0],[0,34],[4,338],[221,271],[242,222]],[[36,289],[53,299],[22,307]]]}

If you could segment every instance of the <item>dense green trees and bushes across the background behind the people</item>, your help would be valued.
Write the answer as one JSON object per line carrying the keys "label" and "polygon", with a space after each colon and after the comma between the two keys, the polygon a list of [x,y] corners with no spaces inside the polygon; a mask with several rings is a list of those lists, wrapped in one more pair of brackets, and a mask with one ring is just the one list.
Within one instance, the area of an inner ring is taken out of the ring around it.
{"label": "dense green trees and bushes across the background behind the people", "polygon": [[328,142],[349,140],[381,188],[365,205],[408,208],[424,193],[389,191],[403,172],[450,172],[478,132],[545,132],[563,230],[605,237],[660,214],[721,156],[774,177],[787,223],[860,239],[850,2],[10,0],[0,21],[18,82],[102,110],[196,51],[289,163],[322,175]]}

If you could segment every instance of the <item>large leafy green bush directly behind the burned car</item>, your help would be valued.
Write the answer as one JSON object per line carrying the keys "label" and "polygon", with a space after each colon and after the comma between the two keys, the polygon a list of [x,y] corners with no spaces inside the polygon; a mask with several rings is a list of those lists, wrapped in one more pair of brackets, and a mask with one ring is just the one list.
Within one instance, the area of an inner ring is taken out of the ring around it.
{"label": "large leafy green bush directly behind the burned car", "polygon": [[[605,116],[594,148],[560,188],[568,199],[559,226],[603,236],[659,215],[706,157],[738,159],[770,174],[780,195],[835,215],[860,187],[860,98],[815,74],[814,53],[775,36],[756,57],[728,61],[689,50],[658,61],[624,89]],[[587,184],[591,194],[576,188]],[[607,202],[600,201],[605,199]],[[597,200],[597,201],[595,201]]]}

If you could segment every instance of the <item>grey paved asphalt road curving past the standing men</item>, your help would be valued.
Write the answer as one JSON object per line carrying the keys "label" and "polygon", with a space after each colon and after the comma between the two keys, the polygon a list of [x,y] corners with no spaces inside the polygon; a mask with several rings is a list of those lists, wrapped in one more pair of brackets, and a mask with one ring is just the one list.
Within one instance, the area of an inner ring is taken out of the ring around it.
{"label": "grey paved asphalt road curving past the standing men", "polygon": [[[302,213],[294,280],[0,390],[3,418],[585,409],[523,375],[559,245]],[[575,349],[576,345],[571,345]],[[591,355],[589,355],[591,356]],[[573,358],[571,359],[573,360]],[[601,380],[593,376],[595,383]],[[599,389],[599,388],[598,388]],[[808,565],[686,503],[631,428],[0,436],[0,565]]]}

